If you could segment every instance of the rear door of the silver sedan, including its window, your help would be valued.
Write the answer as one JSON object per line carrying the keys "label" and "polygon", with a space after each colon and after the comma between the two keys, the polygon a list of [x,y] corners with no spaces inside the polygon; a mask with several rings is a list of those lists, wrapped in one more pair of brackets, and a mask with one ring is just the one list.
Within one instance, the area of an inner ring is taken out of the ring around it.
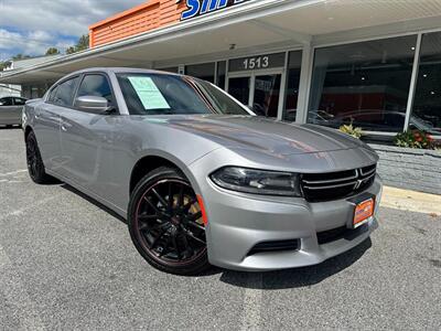
{"label": "rear door of the silver sedan, including its window", "polygon": [[60,174],[62,164],[60,114],[72,107],[79,76],[68,77],[53,86],[44,103],[35,106],[35,131],[40,152],[46,169]]}

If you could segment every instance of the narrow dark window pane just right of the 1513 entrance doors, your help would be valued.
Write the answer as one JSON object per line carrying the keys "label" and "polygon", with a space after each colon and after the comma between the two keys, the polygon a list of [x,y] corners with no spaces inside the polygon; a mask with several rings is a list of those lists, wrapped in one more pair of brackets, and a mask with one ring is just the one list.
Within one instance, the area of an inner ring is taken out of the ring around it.
{"label": "narrow dark window pane just right of the 1513 entrance doors", "polygon": [[294,121],[299,98],[300,68],[302,66],[302,51],[290,52],[288,62],[287,98],[283,119]]}

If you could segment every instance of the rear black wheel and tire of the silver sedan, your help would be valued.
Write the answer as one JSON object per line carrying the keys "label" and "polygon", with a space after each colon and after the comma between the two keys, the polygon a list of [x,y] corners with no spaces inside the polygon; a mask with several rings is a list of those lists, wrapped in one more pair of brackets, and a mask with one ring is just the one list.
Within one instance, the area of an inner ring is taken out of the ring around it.
{"label": "rear black wheel and tire of the silver sedan", "polygon": [[35,134],[29,132],[26,136],[26,163],[28,172],[33,182],[37,184],[52,183],[53,179],[44,169],[44,163],[40,153],[39,143]]}

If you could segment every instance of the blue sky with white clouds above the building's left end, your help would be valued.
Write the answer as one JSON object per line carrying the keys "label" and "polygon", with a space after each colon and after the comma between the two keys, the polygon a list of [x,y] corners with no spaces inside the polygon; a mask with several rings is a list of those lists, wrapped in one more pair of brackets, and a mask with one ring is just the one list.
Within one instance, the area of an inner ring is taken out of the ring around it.
{"label": "blue sky with white clouds above the building's left end", "polygon": [[0,61],[64,52],[88,26],[147,0],[0,0]]}

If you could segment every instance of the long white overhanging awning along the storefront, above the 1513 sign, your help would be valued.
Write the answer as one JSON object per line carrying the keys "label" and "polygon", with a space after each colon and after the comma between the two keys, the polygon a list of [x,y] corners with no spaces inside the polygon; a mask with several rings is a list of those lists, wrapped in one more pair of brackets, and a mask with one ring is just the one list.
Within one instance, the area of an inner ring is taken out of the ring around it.
{"label": "long white overhanging awning along the storefront, above the 1513 sign", "polygon": [[[87,67],[152,67],[158,62],[223,52],[229,52],[233,57],[244,50],[260,52],[269,45],[300,46],[363,28],[387,26],[410,32],[421,29],[421,24],[440,26],[440,18],[438,0],[249,1],[35,66],[2,72],[0,83],[53,82]],[[232,44],[235,50],[228,51]]]}

